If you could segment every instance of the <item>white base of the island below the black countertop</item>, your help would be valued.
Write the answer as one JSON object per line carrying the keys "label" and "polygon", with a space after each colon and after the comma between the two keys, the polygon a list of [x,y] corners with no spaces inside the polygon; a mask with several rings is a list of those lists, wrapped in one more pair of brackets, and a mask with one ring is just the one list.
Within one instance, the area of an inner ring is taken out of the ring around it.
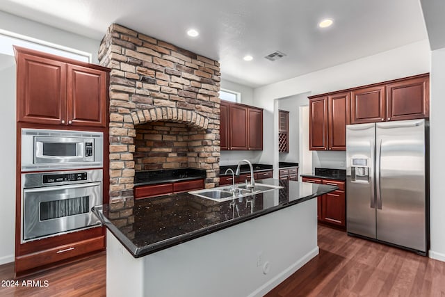
{"label": "white base of the island below the black countertop", "polygon": [[107,231],[107,296],[263,296],[318,255],[316,202],[140,258]]}

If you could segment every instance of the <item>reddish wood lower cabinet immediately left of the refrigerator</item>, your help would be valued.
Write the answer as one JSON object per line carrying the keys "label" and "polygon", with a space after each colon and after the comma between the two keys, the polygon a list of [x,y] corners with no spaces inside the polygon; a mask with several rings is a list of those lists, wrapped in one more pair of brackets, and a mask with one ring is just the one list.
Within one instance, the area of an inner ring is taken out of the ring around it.
{"label": "reddish wood lower cabinet immediately left of the refrigerator", "polygon": [[321,223],[346,228],[346,183],[333,179],[318,179],[315,177],[303,177],[302,181],[339,187],[337,191],[318,196],[317,218]]}

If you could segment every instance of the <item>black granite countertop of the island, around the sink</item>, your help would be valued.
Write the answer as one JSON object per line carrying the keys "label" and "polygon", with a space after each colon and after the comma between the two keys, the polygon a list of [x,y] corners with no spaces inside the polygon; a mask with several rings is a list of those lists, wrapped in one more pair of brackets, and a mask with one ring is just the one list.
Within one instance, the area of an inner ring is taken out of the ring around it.
{"label": "black granite countertop of the island, around the sink", "polygon": [[[188,193],[128,200],[93,207],[93,213],[133,257],[143,257],[185,241],[264,216],[273,211],[330,193],[337,186],[280,179],[262,179],[258,184],[281,185],[269,191],[225,202]],[[247,203],[247,200],[252,203]],[[238,207],[234,207],[237,204]],[[234,209],[237,211],[234,211]]]}

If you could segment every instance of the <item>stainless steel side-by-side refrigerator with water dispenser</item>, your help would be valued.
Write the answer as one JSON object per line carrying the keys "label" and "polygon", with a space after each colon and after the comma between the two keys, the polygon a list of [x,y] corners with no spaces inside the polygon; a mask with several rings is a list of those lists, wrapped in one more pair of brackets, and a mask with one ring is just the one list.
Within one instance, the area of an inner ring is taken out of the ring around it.
{"label": "stainless steel side-by-side refrigerator with water dispenser", "polygon": [[350,235],[428,254],[428,122],[346,126]]}

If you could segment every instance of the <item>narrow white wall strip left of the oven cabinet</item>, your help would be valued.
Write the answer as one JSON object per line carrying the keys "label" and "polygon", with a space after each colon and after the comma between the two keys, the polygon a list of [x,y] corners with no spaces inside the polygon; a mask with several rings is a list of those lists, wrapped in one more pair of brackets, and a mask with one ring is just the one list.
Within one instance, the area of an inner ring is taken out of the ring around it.
{"label": "narrow white wall strip left of the oven cabinet", "polygon": [[1,109],[0,127],[3,145],[0,145],[0,265],[14,261],[15,239],[15,61],[12,56],[1,56],[0,70]]}

